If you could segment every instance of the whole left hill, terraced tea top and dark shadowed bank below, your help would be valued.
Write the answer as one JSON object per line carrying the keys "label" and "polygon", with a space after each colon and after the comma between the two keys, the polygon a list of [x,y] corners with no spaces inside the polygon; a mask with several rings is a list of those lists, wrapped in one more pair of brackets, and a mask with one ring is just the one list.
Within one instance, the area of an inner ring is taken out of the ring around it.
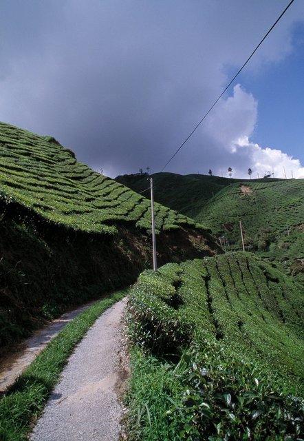
{"label": "whole left hill, terraced tea top and dark shadowed bank below", "polygon": [[[52,136],[0,123],[0,347],[151,267],[151,207]],[[155,205],[159,264],[221,252],[202,225]]]}

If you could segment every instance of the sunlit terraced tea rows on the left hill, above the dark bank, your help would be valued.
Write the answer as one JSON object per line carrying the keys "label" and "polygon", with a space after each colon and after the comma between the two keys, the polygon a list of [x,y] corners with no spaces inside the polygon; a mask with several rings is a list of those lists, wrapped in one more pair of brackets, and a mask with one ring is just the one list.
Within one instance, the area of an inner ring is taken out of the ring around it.
{"label": "sunlit terraced tea rows on the left hill, above the dark bank", "polygon": [[[0,123],[0,197],[47,220],[86,232],[116,231],[120,222],[151,229],[144,196],[89,169],[50,136]],[[156,204],[156,232],[195,222]]]}

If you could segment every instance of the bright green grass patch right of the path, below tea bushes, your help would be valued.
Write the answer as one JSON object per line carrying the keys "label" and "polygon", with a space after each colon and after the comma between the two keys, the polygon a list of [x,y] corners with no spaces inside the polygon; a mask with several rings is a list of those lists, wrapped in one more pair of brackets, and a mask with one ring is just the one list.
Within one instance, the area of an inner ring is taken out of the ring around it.
{"label": "bright green grass patch right of the path, below tea bushes", "polygon": [[170,411],[182,406],[184,386],[174,374],[170,362],[131,349],[131,379],[124,397],[128,406],[127,433],[132,441],[179,440],[180,427],[186,423],[182,412],[180,418]]}

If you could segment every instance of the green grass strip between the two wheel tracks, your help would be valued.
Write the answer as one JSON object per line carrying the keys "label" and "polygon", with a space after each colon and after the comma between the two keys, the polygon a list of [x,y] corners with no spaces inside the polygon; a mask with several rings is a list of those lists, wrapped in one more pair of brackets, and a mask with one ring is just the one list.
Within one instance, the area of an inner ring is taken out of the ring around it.
{"label": "green grass strip between the two wheel tracks", "polygon": [[127,294],[128,290],[113,293],[69,322],[3,394],[0,398],[1,441],[27,439],[74,347],[96,319]]}

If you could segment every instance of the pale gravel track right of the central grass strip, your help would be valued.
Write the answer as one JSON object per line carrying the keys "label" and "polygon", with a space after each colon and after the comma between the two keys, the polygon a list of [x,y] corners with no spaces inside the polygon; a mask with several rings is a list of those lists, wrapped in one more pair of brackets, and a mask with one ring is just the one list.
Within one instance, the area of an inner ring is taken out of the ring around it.
{"label": "pale gravel track right of the central grass strip", "polygon": [[32,441],[118,441],[122,406],[122,314],[127,298],[107,309],[76,347],[51,394]]}

